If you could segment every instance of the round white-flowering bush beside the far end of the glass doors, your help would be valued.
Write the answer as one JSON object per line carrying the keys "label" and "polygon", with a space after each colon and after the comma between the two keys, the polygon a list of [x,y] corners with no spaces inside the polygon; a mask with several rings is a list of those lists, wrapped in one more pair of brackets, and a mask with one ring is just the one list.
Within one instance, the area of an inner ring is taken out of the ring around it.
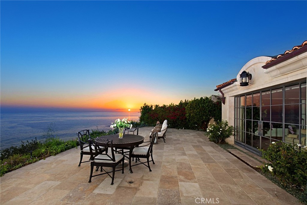
{"label": "round white-flowering bush beside the far end of the glass doors", "polygon": [[207,128],[209,140],[216,143],[225,143],[225,139],[233,135],[234,127],[228,126],[227,120],[210,124]]}

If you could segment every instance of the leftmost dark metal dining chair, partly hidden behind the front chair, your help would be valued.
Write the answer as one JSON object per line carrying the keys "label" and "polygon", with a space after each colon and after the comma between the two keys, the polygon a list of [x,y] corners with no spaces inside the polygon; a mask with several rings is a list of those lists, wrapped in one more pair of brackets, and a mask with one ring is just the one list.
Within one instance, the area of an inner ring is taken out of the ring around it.
{"label": "leftmost dark metal dining chair, partly hidden behind the front chair", "polygon": [[[82,162],[82,158],[83,158],[83,155],[91,155],[89,144],[88,144],[88,139],[91,139],[91,136],[90,136],[89,130],[82,130],[80,132],[77,132],[77,136],[78,136],[78,140],[80,144],[80,163],[78,165],[78,167],[80,167],[81,163],[90,161],[90,160],[87,160],[87,161]],[[96,149],[95,147],[92,147],[92,149],[94,150],[93,152],[97,150],[97,152],[95,153],[96,155],[104,151],[104,148]]]}

